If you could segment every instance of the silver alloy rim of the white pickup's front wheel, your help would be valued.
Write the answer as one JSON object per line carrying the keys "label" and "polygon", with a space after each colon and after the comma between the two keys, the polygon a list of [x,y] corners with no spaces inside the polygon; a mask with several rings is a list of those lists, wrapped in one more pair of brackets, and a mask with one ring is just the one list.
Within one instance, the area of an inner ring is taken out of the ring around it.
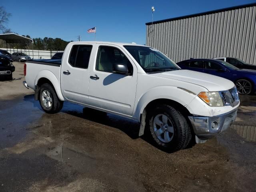
{"label": "silver alloy rim of the white pickup's front wheel", "polygon": [[174,128],[170,119],[164,114],[158,114],[153,120],[153,128],[156,137],[164,142],[168,143],[173,139]]}

